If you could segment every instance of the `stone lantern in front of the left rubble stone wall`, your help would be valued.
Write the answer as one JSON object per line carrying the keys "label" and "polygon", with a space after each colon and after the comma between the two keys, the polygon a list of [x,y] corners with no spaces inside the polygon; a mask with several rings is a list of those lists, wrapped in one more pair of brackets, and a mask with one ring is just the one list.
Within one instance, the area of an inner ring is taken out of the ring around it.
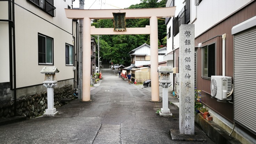
{"label": "stone lantern in front of the left rubble stone wall", "polygon": [[57,67],[43,67],[40,73],[45,74],[45,81],[43,86],[47,87],[47,109],[44,116],[55,116],[57,114],[56,108],[54,108],[53,88],[57,85],[55,73],[58,73]]}

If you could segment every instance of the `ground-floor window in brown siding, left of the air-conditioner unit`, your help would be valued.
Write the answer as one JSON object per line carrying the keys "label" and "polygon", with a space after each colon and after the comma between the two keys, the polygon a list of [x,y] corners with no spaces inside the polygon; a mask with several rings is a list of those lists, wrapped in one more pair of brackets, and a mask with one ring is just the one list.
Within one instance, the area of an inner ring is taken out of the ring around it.
{"label": "ground-floor window in brown siding, left of the air-conditioner unit", "polygon": [[203,77],[215,75],[215,43],[203,47]]}

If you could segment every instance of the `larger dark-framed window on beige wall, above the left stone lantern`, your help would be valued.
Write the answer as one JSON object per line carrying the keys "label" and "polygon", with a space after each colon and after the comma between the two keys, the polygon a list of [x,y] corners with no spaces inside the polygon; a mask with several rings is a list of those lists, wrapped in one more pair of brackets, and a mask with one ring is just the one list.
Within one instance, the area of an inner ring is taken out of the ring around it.
{"label": "larger dark-framed window on beige wall, above the left stone lantern", "polygon": [[38,63],[53,65],[53,38],[38,34]]}

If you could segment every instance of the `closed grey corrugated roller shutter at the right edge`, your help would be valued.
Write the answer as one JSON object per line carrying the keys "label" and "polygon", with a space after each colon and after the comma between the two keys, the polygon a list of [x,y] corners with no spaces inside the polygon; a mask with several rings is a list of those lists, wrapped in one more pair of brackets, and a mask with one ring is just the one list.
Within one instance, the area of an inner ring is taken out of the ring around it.
{"label": "closed grey corrugated roller shutter at the right edge", "polygon": [[[256,28],[234,36],[234,120],[256,134]],[[247,113],[250,113],[248,115]]]}

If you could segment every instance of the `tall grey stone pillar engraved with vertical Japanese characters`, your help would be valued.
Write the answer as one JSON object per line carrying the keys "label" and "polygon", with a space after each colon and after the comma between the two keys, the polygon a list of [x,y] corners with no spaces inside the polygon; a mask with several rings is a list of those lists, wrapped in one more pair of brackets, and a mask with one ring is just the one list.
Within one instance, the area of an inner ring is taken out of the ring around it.
{"label": "tall grey stone pillar engraved with vertical Japanese characters", "polygon": [[194,25],[179,27],[179,132],[194,135]]}

